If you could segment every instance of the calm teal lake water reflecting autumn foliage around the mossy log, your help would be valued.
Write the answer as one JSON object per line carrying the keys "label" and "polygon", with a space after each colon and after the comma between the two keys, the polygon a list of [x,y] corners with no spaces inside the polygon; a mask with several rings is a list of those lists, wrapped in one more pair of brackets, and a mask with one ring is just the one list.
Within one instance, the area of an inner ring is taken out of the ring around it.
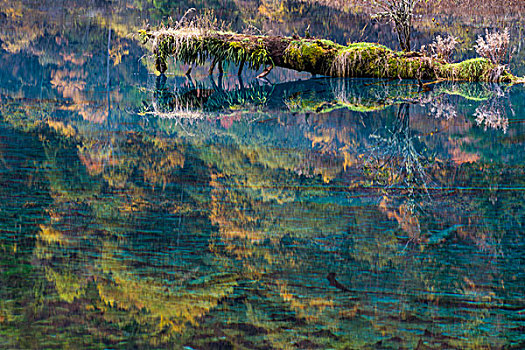
{"label": "calm teal lake water reflecting autumn foliage around the mossy log", "polygon": [[[396,45],[311,1],[2,3],[0,348],[524,348],[525,87],[157,77],[134,33],[191,6]],[[509,26],[524,75],[522,17],[416,46]]]}

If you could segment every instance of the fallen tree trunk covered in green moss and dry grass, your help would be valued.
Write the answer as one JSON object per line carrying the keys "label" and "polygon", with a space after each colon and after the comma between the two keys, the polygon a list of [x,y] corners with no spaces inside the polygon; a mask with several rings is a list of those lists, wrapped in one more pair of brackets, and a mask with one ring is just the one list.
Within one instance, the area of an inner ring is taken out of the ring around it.
{"label": "fallen tree trunk covered in green moss and dry grass", "polygon": [[[257,36],[198,28],[161,29],[140,32],[152,43],[155,68],[164,73],[167,58],[187,64],[219,65],[233,62],[242,70],[273,66],[335,77],[367,77],[418,80],[516,82],[504,66],[483,58],[460,63],[424,56],[419,52],[396,52],[373,43],[348,46],[330,40],[282,36]],[[212,67],[213,69],[213,67]],[[211,70],[212,70],[211,69]]]}

